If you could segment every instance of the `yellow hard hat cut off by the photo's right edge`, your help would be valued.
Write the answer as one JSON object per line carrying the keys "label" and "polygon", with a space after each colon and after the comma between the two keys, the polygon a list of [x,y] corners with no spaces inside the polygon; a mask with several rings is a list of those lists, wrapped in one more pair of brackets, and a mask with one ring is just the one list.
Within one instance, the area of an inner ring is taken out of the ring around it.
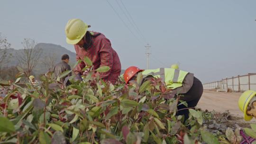
{"label": "yellow hard hat cut off by the photo's right edge", "polygon": [[247,90],[238,99],[238,106],[240,110],[244,113],[244,119],[246,121],[250,121],[253,118],[253,116],[248,116],[246,112],[247,112],[247,107],[250,100],[255,96],[256,96],[256,91]]}

